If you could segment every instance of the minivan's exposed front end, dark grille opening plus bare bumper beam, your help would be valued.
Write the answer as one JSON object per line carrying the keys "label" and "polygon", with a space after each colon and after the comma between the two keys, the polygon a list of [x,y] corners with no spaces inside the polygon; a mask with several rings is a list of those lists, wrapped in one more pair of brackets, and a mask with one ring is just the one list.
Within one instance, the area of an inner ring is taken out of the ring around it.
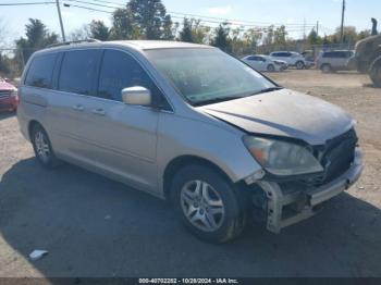
{"label": "minivan's exposed front end, dark grille opening plus bare bumper beam", "polygon": [[[332,147],[328,146],[328,150],[323,150],[324,153],[320,159],[322,162],[327,161],[325,173],[320,178],[308,182],[300,179],[276,182],[265,176],[256,182],[253,203],[256,209],[261,209],[261,220],[266,221],[270,232],[278,234],[282,228],[317,214],[325,201],[357,182],[364,165],[361,153],[355,146],[357,139],[354,135],[354,131],[348,132],[339,137],[339,141],[334,139],[336,142]],[[337,160],[340,163],[332,168]],[[258,215],[258,211],[255,211],[255,214]]]}

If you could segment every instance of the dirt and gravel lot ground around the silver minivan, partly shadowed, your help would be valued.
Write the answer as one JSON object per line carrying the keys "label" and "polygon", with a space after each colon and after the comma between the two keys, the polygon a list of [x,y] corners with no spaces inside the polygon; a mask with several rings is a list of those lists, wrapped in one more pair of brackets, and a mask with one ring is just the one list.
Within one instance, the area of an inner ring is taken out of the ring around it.
{"label": "dirt and gravel lot ground around the silver minivan, partly shadowed", "polygon": [[[381,276],[381,90],[357,74],[270,74],[354,115],[360,182],[316,218],[273,235],[205,244],[163,202],[65,165],[42,170],[16,119],[0,116],[0,276]],[[34,249],[49,255],[30,261]]]}

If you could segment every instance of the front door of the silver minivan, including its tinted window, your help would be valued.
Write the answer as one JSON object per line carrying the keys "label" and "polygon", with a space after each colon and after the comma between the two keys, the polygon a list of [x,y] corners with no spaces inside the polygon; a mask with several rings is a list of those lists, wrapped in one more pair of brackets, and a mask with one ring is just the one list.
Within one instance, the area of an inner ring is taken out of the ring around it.
{"label": "front door of the silver minivan, including its tinted window", "polygon": [[97,96],[88,98],[86,120],[78,126],[87,140],[84,156],[98,168],[139,188],[157,186],[156,146],[159,112],[149,107],[127,106],[121,91],[133,86],[161,96],[150,77],[128,53],[103,51]]}

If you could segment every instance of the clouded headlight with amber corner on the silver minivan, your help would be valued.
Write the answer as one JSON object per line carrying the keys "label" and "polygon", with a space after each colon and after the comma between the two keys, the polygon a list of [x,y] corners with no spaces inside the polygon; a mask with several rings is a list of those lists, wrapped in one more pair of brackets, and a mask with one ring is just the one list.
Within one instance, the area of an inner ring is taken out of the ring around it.
{"label": "clouded headlight with amber corner on the silver minivan", "polygon": [[322,172],[323,168],[304,146],[276,139],[247,136],[244,142],[251,156],[274,175],[300,175]]}

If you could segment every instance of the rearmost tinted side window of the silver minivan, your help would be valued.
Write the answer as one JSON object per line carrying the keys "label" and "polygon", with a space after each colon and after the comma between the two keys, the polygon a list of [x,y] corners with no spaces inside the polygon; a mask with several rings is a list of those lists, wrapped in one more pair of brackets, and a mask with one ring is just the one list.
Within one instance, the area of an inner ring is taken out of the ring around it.
{"label": "rearmost tinted side window of the silver minivan", "polygon": [[42,54],[34,58],[26,75],[25,85],[51,88],[56,59],[57,53]]}

